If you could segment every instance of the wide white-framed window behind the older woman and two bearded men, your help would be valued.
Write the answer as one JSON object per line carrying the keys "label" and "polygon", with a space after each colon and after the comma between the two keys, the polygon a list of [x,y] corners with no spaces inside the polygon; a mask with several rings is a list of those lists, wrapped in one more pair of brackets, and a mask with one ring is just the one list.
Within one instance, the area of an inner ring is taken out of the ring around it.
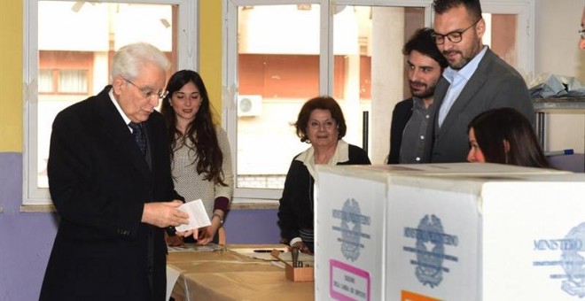
{"label": "wide white-framed window behind the older woman and two bearded men", "polygon": [[[482,1],[490,29],[484,43],[528,76],[532,5]],[[402,46],[417,28],[432,27],[431,6],[431,0],[224,0],[222,105],[234,200],[281,196],[292,157],[308,148],[292,123],[306,100],[322,94],[344,111],[344,139],[383,163],[392,110],[409,97]]]}

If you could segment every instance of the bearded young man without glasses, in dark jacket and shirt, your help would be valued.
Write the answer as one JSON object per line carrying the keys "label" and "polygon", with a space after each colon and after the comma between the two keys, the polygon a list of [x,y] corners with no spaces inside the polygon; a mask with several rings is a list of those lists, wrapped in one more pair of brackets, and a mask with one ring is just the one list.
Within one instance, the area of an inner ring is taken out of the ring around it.
{"label": "bearded young man without glasses, in dark jacket and shirt", "polygon": [[[420,28],[404,44],[412,97],[394,106],[388,164],[428,163],[425,135],[433,114],[433,94],[447,60],[437,49],[433,29]],[[433,127],[433,123],[430,123]]]}

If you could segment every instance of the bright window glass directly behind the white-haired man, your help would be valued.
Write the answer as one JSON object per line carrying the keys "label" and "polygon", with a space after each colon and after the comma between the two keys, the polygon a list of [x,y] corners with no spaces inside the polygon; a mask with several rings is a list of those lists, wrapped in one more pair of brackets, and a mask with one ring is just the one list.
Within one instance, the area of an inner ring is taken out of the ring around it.
{"label": "bright window glass directly behind the white-haired man", "polygon": [[[85,1],[38,2],[38,92],[35,131],[35,168],[29,189],[48,188],[46,164],[51,125],[67,106],[99,93],[109,83],[111,59],[116,50],[131,42],[150,42],[176,57],[173,4],[125,4]],[[63,33],[66,33],[64,35]],[[172,61],[170,73],[175,72]],[[34,114],[29,116],[34,118]],[[32,186],[32,187],[30,187]]]}

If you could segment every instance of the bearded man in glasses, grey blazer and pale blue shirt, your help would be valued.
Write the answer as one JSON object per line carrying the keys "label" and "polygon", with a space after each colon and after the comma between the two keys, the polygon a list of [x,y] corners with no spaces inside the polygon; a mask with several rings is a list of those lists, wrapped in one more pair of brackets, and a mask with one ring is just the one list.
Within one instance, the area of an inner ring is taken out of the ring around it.
{"label": "bearded man in glasses, grey blazer and pale blue shirt", "polygon": [[434,0],[434,37],[448,68],[435,89],[433,127],[425,151],[432,162],[465,162],[467,127],[480,112],[512,107],[534,124],[534,107],[522,76],[486,45],[479,0]]}

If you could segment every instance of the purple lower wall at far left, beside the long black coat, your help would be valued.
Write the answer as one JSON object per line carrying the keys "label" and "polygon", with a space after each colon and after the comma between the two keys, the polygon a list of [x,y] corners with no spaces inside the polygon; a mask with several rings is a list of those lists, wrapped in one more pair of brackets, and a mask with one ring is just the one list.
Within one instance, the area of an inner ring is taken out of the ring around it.
{"label": "purple lower wall at far left, beside the long black coat", "polygon": [[22,154],[0,153],[0,300],[38,299],[56,214],[20,212]]}

